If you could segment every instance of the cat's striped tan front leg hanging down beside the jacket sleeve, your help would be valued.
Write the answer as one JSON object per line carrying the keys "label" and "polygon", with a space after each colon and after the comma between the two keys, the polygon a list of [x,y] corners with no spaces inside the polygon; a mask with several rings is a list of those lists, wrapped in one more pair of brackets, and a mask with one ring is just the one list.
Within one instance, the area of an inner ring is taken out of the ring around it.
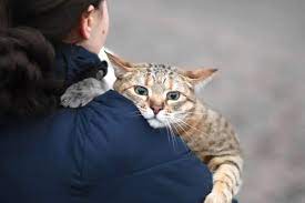
{"label": "cat's striped tan front leg hanging down beside the jacket sleeve", "polygon": [[243,160],[240,155],[215,156],[207,163],[213,172],[213,190],[204,203],[231,203],[242,184]]}

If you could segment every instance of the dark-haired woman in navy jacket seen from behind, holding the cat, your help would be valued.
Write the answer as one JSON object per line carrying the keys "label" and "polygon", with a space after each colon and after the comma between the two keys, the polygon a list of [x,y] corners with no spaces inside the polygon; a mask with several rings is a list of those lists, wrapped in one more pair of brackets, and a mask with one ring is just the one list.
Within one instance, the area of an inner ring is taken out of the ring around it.
{"label": "dark-haired woman in navy jacket seen from behind, holding the cat", "polygon": [[106,1],[1,0],[1,203],[204,200],[206,166],[134,116],[131,101],[109,91],[84,108],[59,106],[64,88],[106,73],[98,58]]}

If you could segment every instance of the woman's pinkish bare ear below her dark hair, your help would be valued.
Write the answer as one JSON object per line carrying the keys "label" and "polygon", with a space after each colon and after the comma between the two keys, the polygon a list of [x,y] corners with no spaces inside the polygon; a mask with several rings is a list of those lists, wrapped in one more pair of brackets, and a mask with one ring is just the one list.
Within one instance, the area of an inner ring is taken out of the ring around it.
{"label": "woman's pinkish bare ear below her dark hair", "polygon": [[81,16],[79,34],[84,40],[89,40],[91,37],[93,26],[94,26],[94,17],[93,17],[94,10],[95,8],[91,4]]}

